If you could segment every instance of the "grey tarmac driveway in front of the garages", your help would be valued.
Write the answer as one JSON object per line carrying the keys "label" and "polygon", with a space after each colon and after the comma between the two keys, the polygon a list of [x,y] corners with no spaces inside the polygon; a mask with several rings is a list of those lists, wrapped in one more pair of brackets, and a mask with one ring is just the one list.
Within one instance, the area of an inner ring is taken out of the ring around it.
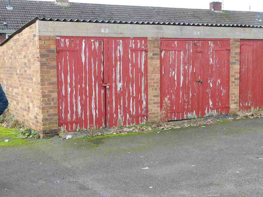
{"label": "grey tarmac driveway in front of the garages", "polygon": [[263,196],[263,119],[0,148],[0,196]]}

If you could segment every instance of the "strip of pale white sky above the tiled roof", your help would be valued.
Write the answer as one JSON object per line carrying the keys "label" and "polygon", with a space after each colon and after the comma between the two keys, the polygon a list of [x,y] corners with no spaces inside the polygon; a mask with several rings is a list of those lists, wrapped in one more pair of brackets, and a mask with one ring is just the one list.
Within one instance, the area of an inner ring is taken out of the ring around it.
{"label": "strip of pale white sky above the tiled roof", "polygon": [[[250,11],[263,12],[262,0],[221,0],[221,2],[222,1],[224,10],[249,11],[250,6]],[[211,0],[69,0],[69,2],[209,9],[209,2],[211,2]]]}

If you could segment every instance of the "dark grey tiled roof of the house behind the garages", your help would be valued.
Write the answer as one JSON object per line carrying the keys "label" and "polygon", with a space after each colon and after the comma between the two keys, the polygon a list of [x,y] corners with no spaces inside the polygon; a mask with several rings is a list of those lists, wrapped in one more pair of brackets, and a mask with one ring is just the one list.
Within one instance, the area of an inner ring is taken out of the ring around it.
{"label": "dark grey tiled roof of the house behind the garages", "polygon": [[[73,3],[67,7],[54,1],[0,0],[0,31],[15,31],[35,17],[42,20],[84,22],[168,24],[195,26],[241,26],[263,27],[257,20],[257,12],[222,11],[209,9],[182,9],[165,7],[142,7],[128,5],[102,5]],[[207,5],[208,6],[208,5]],[[262,14],[263,19],[263,14]],[[4,25],[7,22],[8,25]]]}

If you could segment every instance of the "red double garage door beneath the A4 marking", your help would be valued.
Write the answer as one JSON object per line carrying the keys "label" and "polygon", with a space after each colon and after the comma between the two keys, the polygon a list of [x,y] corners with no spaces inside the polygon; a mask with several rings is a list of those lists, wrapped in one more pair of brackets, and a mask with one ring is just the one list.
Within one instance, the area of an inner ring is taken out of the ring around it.
{"label": "red double garage door beneath the A4 marking", "polygon": [[161,109],[169,105],[166,118],[229,113],[229,61],[227,39],[161,39]]}

